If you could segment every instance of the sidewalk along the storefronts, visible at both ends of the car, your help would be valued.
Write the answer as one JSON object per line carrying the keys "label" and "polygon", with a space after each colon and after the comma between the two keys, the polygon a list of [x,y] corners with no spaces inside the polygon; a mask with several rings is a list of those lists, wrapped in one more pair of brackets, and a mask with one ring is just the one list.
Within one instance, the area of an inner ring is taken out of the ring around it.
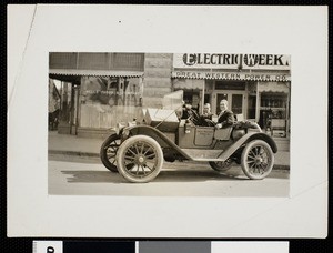
{"label": "sidewalk along the storefronts, visible at both ends of the car", "polygon": [[[57,131],[49,131],[49,153],[99,156],[103,141],[102,139],[78,138],[77,135],[59,134]],[[289,151],[278,151],[274,169],[290,169]]]}

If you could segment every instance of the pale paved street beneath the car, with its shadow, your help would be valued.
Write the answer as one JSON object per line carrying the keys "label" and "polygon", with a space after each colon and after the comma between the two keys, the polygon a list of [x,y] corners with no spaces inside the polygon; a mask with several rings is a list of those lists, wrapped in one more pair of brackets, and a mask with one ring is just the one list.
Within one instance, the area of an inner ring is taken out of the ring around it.
{"label": "pale paved street beneath the car, with its shadow", "polygon": [[129,183],[107,170],[98,158],[49,156],[49,194],[140,196],[287,196],[289,171],[273,170],[269,178],[248,180],[240,166],[219,174],[209,164],[164,162],[160,174],[144,184]]}

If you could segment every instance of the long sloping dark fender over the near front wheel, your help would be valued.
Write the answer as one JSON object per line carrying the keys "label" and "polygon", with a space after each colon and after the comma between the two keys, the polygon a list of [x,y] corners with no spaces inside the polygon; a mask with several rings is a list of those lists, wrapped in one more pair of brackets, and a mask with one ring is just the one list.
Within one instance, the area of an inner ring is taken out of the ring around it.
{"label": "long sloping dark fender over the near front wheel", "polygon": [[152,139],[154,139],[161,146],[169,146],[172,148],[174,151],[179,152],[181,155],[183,155],[188,160],[192,160],[192,158],[186,154],[182,149],[180,149],[174,142],[172,142],[163,132],[160,130],[151,126],[151,125],[134,125],[127,128],[122,133],[129,132],[129,135],[148,135]]}

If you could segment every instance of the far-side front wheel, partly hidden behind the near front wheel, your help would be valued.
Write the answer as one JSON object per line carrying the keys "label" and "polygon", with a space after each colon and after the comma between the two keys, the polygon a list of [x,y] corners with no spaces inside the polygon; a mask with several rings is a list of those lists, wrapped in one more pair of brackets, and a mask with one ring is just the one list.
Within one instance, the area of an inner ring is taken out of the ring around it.
{"label": "far-side front wheel, partly hidden behind the near front wheel", "polygon": [[103,142],[100,150],[101,161],[111,172],[118,172],[115,156],[120,142],[120,136],[118,134],[112,134]]}

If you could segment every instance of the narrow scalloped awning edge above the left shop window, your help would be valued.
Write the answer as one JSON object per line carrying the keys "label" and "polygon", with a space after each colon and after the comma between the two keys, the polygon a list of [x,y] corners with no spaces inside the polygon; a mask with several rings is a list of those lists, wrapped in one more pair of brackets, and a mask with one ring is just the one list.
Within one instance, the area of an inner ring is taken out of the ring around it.
{"label": "narrow scalloped awning edge above the left shop window", "polygon": [[52,75],[141,78],[141,71],[50,69]]}

